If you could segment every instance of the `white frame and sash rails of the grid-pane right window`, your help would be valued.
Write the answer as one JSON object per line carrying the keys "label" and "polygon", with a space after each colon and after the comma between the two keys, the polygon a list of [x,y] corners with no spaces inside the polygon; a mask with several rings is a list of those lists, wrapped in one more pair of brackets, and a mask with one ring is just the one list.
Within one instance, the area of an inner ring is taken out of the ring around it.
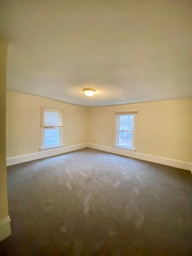
{"label": "white frame and sash rails of the grid-pane right window", "polygon": [[[131,151],[136,151],[136,135],[137,135],[137,113],[131,113],[133,111],[122,111],[123,113],[121,114],[118,112],[116,115],[116,130],[115,130],[115,140],[114,140],[114,147],[126,149],[126,150],[131,150]],[[125,131],[125,130],[120,130],[120,116],[133,116],[133,129],[132,131]],[[131,147],[128,146],[123,146],[119,145],[119,131],[125,131],[125,132],[132,132],[132,141],[131,141]]]}

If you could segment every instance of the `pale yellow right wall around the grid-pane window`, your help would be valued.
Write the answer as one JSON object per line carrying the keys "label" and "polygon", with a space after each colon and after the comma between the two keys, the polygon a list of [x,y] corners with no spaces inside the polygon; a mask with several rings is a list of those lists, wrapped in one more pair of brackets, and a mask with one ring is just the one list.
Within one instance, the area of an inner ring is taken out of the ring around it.
{"label": "pale yellow right wall around the grid-pane window", "polygon": [[117,110],[138,110],[137,152],[192,162],[192,99],[89,108],[89,143],[113,147]]}

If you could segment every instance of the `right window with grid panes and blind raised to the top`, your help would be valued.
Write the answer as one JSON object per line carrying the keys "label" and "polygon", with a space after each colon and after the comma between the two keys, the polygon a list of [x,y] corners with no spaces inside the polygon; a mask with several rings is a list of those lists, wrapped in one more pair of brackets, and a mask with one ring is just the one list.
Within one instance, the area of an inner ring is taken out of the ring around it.
{"label": "right window with grid panes and blind raised to the top", "polygon": [[116,146],[136,150],[137,111],[116,112]]}

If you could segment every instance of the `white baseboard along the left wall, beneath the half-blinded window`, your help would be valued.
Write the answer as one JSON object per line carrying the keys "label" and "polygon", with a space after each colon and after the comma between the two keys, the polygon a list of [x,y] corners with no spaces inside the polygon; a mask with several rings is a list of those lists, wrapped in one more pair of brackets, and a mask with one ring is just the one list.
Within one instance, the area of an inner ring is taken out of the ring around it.
{"label": "white baseboard along the left wall, beneath the half-blinded window", "polygon": [[63,153],[67,153],[70,151],[82,149],[88,147],[87,143],[82,143],[82,144],[77,144],[73,146],[68,146],[68,147],[62,147],[62,148],[55,148],[55,149],[47,149],[44,151],[39,151],[31,154],[26,154],[26,155],[19,155],[19,156],[13,156],[13,157],[8,157],[7,160],[7,166],[13,165],[13,164],[20,164],[32,160],[37,160],[40,158],[45,158],[53,155],[60,155]]}

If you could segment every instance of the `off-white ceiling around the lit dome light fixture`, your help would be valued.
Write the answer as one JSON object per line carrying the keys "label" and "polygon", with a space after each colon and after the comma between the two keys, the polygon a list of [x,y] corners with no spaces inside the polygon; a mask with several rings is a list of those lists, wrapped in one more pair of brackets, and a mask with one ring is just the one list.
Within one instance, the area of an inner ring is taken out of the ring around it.
{"label": "off-white ceiling around the lit dome light fixture", "polygon": [[1,0],[0,33],[9,90],[87,107],[192,97],[191,0]]}

